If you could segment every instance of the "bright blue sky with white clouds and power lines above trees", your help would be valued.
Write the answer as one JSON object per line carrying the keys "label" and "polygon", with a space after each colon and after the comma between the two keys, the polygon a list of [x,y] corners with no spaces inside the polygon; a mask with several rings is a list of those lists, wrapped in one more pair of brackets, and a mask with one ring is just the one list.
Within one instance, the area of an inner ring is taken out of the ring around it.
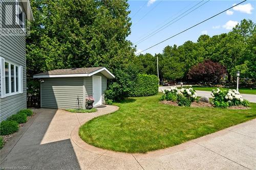
{"label": "bright blue sky with white clouds and power lines above trees", "polygon": [[[132,19],[131,35],[127,37],[136,45],[137,53],[171,37],[198,22],[203,21],[241,1],[170,1],[144,0],[128,1]],[[162,53],[167,45],[182,45],[185,41],[196,42],[202,34],[209,36],[227,33],[242,19],[256,22],[256,1],[246,1],[243,4],[212,18],[193,29],[171,38],[145,52]],[[159,29],[157,31],[157,29]],[[156,34],[155,34],[156,33]],[[146,37],[147,36],[147,37]],[[146,38],[146,39],[143,39]]]}

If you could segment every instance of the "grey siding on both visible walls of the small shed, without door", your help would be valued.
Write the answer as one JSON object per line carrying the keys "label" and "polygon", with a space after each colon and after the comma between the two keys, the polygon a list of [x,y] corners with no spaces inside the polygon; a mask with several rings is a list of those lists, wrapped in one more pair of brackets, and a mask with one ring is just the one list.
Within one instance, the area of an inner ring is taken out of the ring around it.
{"label": "grey siding on both visible walls of the small shed, without door", "polygon": [[[104,92],[106,90],[106,77],[101,73],[102,104],[104,104]],[[58,109],[75,109],[78,107],[77,95],[80,107],[84,106],[85,98],[93,95],[93,78],[69,77],[69,78],[44,78],[41,83],[41,107]]]}

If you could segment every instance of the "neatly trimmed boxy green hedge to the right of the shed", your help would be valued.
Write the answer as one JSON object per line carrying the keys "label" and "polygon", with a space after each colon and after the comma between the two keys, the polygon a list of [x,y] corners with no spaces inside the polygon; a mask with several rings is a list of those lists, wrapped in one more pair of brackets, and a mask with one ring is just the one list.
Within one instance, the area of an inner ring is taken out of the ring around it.
{"label": "neatly trimmed boxy green hedge to the right of the shed", "polygon": [[158,93],[158,78],[155,75],[139,74],[135,83],[135,87],[129,96],[148,96]]}

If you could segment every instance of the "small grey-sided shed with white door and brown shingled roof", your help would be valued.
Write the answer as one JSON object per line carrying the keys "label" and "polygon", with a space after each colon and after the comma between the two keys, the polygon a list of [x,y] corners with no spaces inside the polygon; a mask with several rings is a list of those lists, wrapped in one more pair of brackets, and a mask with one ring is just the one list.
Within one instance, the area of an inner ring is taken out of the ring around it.
{"label": "small grey-sided shed with white door and brown shingled roof", "polygon": [[56,69],[34,75],[40,79],[42,108],[77,109],[86,107],[93,96],[93,106],[104,104],[107,79],[115,76],[105,67]]}

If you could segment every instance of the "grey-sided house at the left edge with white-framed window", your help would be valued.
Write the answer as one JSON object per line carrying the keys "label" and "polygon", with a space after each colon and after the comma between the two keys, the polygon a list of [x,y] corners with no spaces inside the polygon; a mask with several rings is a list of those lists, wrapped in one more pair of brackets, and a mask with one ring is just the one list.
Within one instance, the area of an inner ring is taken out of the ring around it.
{"label": "grey-sided house at the left edge with white-framed window", "polygon": [[0,120],[27,108],[26,19],[33,20],[29,0],[0,3]]}

